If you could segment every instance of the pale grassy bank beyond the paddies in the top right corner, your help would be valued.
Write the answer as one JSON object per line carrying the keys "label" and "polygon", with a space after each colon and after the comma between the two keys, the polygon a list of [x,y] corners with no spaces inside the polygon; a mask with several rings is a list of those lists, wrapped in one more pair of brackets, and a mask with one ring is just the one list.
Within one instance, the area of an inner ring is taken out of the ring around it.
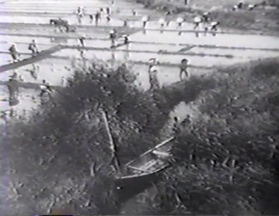
{"label": "pale grassy bank beyond the paddies in the top right corner", "polygon": [[[238,1],[190,1],[188,6],[183,1],[168,0],[135,0],[138,4],[145,5],[146,8],[158,11],[172,11],[174,15],[183,15],[186,21],[193,22],[197,14],[205,11],[212,12],[212,18],[219,20],[224,29],[244,30],[251,32],[261,32],[264,34],[276,34],[279,32],[279,9],[277,1],[268,1],[274,6],[273,9],[256,8],[254,11],[231,11],[233,5]],[[252,0],[249,4],[259,4],[261,1]],[[246,5],[247,6],[247,5]],[[276,8],[277,7],[277,8]]]}

